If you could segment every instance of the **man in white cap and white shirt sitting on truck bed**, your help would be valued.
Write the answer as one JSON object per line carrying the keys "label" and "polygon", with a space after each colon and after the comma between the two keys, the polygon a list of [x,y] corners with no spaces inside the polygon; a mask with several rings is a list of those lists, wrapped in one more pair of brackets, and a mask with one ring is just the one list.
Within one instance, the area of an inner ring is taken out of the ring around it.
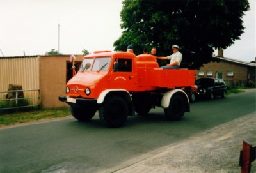
{"label": "man in white cap and white shirt sitting on truck bed", "polygon": [[166,64],[166,66],[161,66],[161,68],[165,69],[178,69],[180,68],[180,63],[182,60],[182,54],[179,52],[179,46],[172,45],[173,54],[167,57],[156,57],[158,59],[171,59],[170,64]]}

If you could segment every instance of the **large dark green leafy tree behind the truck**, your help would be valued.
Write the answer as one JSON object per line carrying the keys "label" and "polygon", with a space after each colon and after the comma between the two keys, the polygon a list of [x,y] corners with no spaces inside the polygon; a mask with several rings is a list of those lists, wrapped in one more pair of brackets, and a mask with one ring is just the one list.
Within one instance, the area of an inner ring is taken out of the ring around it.
{"label": "large dark green leafy tree behind the truck", "polygon": [[214,49],[226,49],[243,33],[248,0],[124,0],[122,36],[115,50],[132,45],[135,54],[157,48],[157,56],[172,54],[177,44],[182,68],[200,68],[214,61]]}

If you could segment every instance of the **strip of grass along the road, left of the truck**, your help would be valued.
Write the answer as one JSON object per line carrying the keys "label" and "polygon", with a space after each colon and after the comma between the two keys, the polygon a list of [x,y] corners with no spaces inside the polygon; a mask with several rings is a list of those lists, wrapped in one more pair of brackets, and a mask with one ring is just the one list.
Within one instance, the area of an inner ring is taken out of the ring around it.
{"label": "strip of grass along the road, left of the truck", "polygon": [[70,115],[69,107],[58,109],[36,110],[31,112],[18,112],[14,114],[4,114],[0,116],[0,127],[12,124],[28,123],[39,119],[52,119]]}

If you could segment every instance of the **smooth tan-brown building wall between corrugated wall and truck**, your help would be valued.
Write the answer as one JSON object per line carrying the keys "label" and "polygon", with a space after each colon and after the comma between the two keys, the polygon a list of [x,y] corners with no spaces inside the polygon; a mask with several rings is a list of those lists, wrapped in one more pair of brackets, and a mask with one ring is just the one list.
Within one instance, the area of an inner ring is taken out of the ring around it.
{"label": "smooth tan-brown building wall between corrugated wall and truck", "polygon": [[[58,100],[66,94],[67,61],[70,56],[40,56],[40,89],[42,108],[67,107]],[[76,61],[82,61],[83,55],[77,55]]]}

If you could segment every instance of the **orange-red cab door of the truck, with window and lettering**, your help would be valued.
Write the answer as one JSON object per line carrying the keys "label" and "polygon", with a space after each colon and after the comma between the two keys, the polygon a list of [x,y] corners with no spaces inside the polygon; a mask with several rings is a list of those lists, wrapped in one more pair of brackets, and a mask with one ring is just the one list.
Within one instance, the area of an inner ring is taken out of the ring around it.
{"label": "orange-red cab door of the truck, with window and lettering", "polygon": [[111,75],[109,87],[115,89],[126,89],[134,91],[136,87],[136,76],[132,69],[133,59],[116,58],[113,65],[113,73]]}

